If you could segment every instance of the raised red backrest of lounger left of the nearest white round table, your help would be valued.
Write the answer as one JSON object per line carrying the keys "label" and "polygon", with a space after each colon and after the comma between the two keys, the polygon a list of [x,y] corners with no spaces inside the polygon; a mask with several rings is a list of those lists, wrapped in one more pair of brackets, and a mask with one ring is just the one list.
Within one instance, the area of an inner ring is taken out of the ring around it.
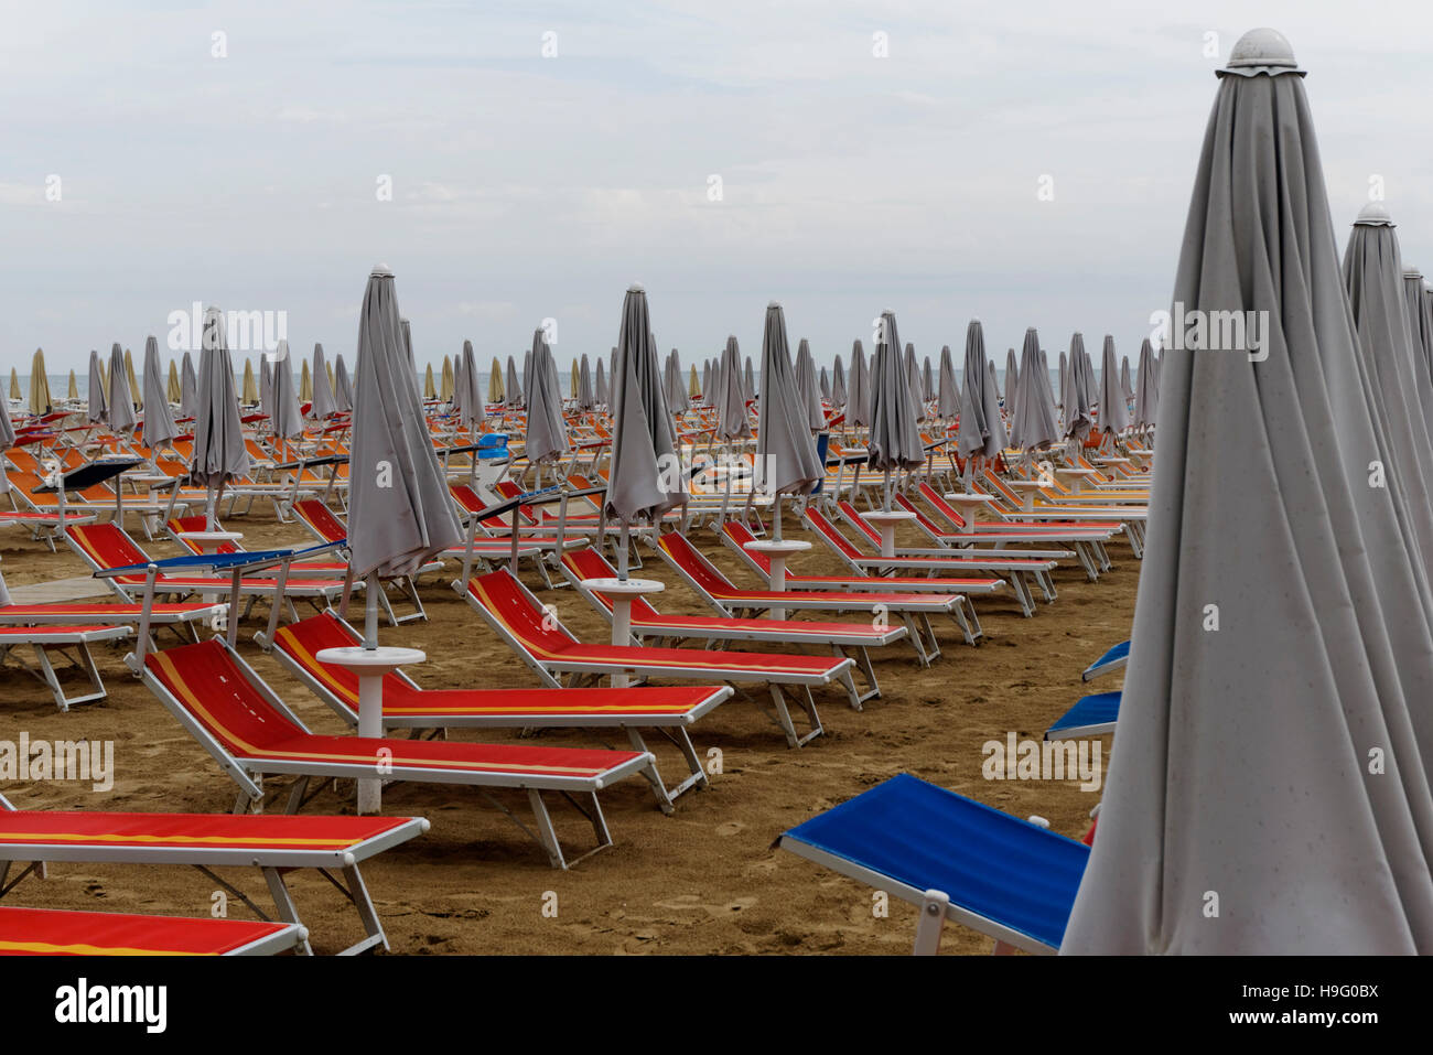
{"label": "raised red backrest of lounger left of the nearest white round table", "polygon": [[216,638],[150,652],[145,668],[231,754],[252,755],[308,735],[249,684]]}

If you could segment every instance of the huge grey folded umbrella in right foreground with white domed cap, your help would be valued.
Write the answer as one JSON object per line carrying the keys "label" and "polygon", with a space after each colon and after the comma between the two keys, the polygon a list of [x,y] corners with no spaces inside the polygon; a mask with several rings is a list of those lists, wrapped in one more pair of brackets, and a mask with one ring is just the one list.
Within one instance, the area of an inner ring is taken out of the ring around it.
{"label": "huge grey folded umbrella in right foreground with white domed cap", "polygon": [[1427,953],[1426,583],[1370,486],[1387,450],[1303,70],[1254,30],[1218,76],[1172,300],[1267,331],[1257,357],[1164,353],[1119,748],[1062,952]]}

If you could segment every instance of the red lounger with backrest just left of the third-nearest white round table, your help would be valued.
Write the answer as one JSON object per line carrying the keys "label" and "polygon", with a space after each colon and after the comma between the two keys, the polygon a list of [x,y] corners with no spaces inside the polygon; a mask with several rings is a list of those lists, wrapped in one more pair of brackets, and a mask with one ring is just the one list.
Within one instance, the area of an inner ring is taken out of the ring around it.
{"label": "red lounger with backrest just left of the third-nearest white round table", "polygon": [[866,612],[893,615],[910,628],[920,644],[923,662],[940,655],[940,642],[930,625],[931,615],[949,615],[969,644],[980,636],[980,621],[963,593],[857,593],[843,591],[742,589],[722,575],[684,535],[658,536],[656,550],[696,595],[721,615],[759,615],[771,608],[788,612]]}

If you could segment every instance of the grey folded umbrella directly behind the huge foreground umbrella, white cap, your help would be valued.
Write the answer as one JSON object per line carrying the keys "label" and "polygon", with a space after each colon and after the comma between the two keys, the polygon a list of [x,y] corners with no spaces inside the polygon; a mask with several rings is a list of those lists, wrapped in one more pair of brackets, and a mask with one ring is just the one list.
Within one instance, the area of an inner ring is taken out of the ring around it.
{"label": "grey folded umbrella directly behind the huge foreground umbrella, white cap", "polygon": [[1427,571],[1433,568],[1433,436],[1419,400],[1417,360],[1403,304],[1403,254],[1380,202],[1364,205],[1348,234],[1343,278],[1391,472],[1403,486],[1410,528]]}

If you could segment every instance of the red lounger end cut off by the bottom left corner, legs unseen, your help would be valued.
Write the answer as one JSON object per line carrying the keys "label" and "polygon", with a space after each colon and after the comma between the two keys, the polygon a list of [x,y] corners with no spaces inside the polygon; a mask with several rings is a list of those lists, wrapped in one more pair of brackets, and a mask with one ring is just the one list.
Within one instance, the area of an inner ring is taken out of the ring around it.
{"label": "red lounger end cut off by the bottom left corner, legs unseen", "polygon": [[292,923],[0,909],[0,956],[272,956],[305,939]]}

